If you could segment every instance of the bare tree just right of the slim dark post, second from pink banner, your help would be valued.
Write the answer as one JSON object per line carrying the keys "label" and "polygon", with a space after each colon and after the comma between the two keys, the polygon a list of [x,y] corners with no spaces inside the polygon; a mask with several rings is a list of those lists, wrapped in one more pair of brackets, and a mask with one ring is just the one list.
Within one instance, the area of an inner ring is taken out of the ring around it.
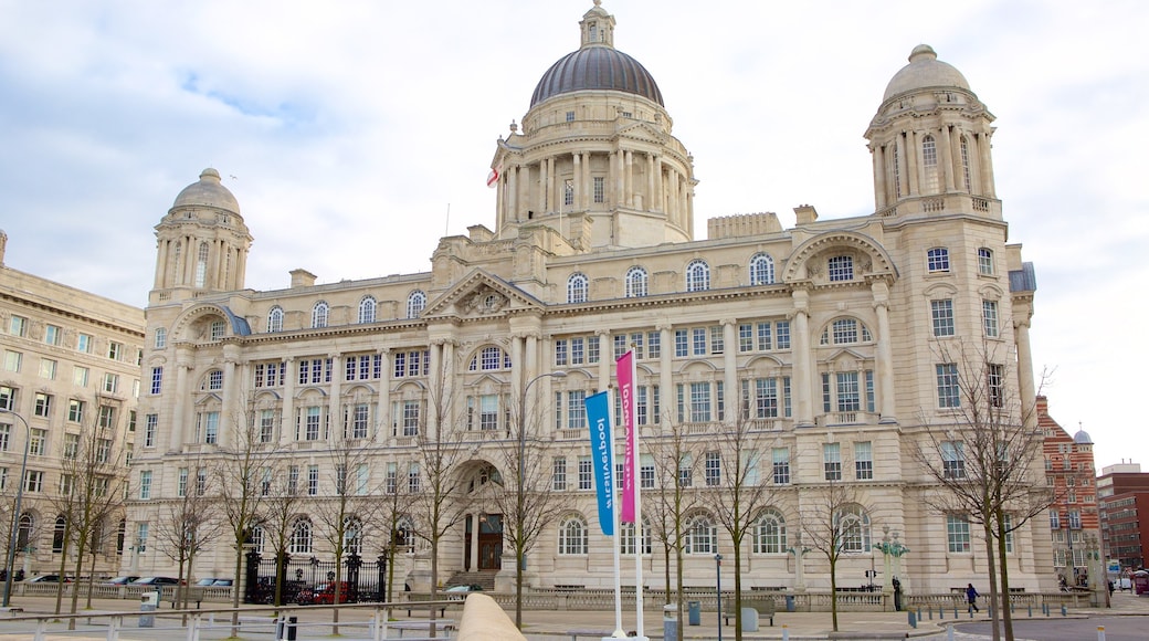
{"label": "bare tree just right of the slim dark post, second from pink banner", "polygon": [[762,453],[774,440],[750,418],[749,399],[730,425],[722,425],[703,454],[704,501],[734,547],[734,639],[742,639],[742,542],[754,533],[757,519],[773,496],[773,486],[762,478]]}

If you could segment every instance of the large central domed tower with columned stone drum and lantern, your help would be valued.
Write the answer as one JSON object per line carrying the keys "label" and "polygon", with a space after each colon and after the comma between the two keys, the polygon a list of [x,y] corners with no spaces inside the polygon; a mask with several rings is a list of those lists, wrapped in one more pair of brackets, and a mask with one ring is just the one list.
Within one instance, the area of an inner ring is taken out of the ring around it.
{"label": "large central domed tower with columned stone drum and lantern", "polygon": [[511,124],[499,140],[501,239],[538,225],[577,252],[693,239],[693,157],[671,136],[654,77],[615,48],[600,5],[579,22],[579,48],[542,75],[522,131]]}

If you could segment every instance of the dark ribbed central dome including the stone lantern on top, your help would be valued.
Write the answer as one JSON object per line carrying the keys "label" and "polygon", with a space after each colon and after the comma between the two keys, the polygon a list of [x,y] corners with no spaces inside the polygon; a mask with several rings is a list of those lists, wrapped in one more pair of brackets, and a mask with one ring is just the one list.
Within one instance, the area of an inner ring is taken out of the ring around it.
{"label": "dark ribbed central dome including the stone lantern on top", "polygon": [[531,96],[531,108],[548,99],[577,91],[620,91],[641,95],[665,107],[662,92],[639,61],[615,48],[615,18],[594,0],[579,29],[583,46],[564,55],[542,75]]}

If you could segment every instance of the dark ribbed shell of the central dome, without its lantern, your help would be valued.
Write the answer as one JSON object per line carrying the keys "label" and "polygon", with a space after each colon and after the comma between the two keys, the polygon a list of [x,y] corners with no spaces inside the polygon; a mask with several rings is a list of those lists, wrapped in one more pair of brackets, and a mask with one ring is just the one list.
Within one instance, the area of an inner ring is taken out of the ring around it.
{"label": "dark ribbed shell of the central dome, without its lantern", "polygon": [[623,91],[665,107],[654,77],[639,61],[602,45],[583,47],[550,65],[534,87],[531,107],[555,95],[587,90]]}

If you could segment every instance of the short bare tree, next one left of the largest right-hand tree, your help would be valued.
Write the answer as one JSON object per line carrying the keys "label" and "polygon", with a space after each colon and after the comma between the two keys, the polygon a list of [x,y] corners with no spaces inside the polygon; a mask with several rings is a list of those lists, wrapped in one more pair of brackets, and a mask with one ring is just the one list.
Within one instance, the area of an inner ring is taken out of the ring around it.
{"label": "short bare tree, next one left of the largest right-hand tree", "polygon": [[809,488],[801,508],[803,541],[830,564],[830,612],[838,632],[838,561],[843,554],[865,551],[869,510],[854,486],[841,481],[841,468],[825,470],[826,481]]}

